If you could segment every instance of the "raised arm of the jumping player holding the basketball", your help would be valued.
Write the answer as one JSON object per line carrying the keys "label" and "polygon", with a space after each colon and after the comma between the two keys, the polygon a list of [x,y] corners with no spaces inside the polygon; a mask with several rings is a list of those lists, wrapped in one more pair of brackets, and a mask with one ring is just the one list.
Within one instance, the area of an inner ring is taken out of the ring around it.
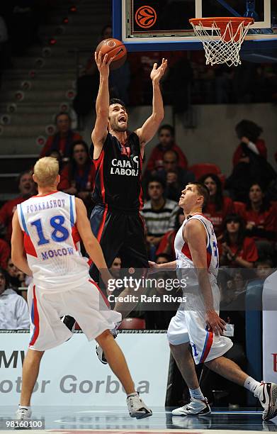
{"label": "raised arm of the jumping player holding the basketball", "polygon": [[94,158],[98,158],[108,134],[108,107],[110,103],[108,75],[113,57],[107,62],[108,56],[105,55],[102,58],[101,51],[98,54],[95,52],[94,56],[100,73],[100,82],[96,99],[96,122],[91,133],[91,141],[94,144]]}

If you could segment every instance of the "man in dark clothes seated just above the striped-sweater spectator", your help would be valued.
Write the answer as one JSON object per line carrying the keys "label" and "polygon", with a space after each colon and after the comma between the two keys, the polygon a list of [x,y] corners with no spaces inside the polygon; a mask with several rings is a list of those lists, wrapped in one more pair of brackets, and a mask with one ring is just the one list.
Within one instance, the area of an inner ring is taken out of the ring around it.
{"label": "man in dark clothes seated just above the striped-sweater spectator", "polygon": [[158,176],[166,183],[164,196],[171,201],[179,202],[183,187],[195,181],[195,176],[192,172],[179,167],[179,155],[174,150],[164,152],[163,165],[164,169],[159,170]]}

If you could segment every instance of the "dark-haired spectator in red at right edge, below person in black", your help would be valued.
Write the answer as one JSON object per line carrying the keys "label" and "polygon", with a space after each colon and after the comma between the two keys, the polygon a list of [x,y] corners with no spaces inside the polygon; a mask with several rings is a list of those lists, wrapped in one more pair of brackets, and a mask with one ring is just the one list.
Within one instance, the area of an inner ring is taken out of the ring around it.
{"label": "dark-haired spectator in red at right edge, below person in black", "polygon": [[273,255],[273,243],[276,239],[276,209],[265,199],[259,184],[253,184],[249,190],[249,200],[245,206],[244,221],[247,236],[253,238],[259,257]]}

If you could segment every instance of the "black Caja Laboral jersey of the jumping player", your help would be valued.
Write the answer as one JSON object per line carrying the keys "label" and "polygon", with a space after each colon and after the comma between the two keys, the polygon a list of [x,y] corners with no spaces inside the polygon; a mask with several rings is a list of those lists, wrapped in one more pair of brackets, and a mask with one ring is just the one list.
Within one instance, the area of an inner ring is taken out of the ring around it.
{"label": "black Caja Laboral jersey of the jumping player", "polygon": [[[92,200],[111,211],[134,212],[143,206],[142,157],[136,133],[130,133],[125,147],[130,148],[130,157],[125,155],[126,150],[118,139],[108,133],[100,156],[93,160],[96,174]],[[93,156],[94,145],[91,145],[92,159]]]}

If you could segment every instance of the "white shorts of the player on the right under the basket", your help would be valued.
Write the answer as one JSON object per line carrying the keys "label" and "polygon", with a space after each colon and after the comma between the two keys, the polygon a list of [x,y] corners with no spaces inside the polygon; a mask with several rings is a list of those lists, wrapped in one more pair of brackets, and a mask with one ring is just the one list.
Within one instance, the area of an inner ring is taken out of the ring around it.
{"label": "white shorts of the player on the right under the basket", "polygon": [[[215,311],[219,313],[220,290],[215,284],[213,284],[213,301]],[[186,310],[179,308],[176,315],[171,318],[167,330],[169,343],[171,345],[190,343],[196,365],[224,355],[232,347],[232,340],[208,331],[205,322],[205,309],[203,307],[196,310],[196,304],[193,302],[191,294],[187,295],[187,303]]]}

